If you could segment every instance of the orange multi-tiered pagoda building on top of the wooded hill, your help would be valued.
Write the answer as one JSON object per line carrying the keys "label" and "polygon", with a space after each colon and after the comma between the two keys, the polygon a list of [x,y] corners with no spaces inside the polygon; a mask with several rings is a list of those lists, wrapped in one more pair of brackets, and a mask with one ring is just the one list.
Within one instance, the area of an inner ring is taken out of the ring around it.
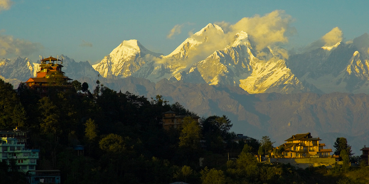
{"label": "orange multi-tiered pagoda building on top of the wooded hill", "polygon": [[28,79],[25,85],[28,89],[36,91],[41,97],[47,96],[50,88],[56,91],[68,91],[73,88],[69,77],[64,76],[62,71],[63,61],[55,57],[48,57],[40,60],[40,71],[35,78]]}

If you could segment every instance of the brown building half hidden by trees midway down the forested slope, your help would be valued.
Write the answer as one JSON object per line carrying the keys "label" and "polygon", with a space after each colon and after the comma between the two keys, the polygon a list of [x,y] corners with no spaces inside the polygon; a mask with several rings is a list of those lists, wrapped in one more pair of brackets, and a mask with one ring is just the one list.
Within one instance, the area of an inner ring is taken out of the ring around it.
{"label": "brown building half hidden by trees midway down the forested slope", "polygon": [[183,119],[185,117],[191,117],[195,121],[199,122],[199,116],[186,116],[186,115],[177,115],[173,111],[168,111],[163,113],[163,128],[165,130],[169,130],[170,128],[178,128],[183,124]]}

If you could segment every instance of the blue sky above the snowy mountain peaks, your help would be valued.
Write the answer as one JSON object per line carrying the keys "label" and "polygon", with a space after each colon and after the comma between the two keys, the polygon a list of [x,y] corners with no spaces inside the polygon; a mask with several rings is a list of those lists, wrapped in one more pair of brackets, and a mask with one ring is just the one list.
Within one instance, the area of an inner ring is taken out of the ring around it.
{"label": "blue sky above the snowy mountain peaks", "polygon": [[349,41],[369,32],[368,7],[367,0],[0,0],[0,58],[36,62],[39,55],[65,54],[95,64],[129,39],[166,55],[208,23],[233,25],[275,10],[290,16],[286,24],[295,30],[281,43],[287,49],[309,45],[335,27]]}

